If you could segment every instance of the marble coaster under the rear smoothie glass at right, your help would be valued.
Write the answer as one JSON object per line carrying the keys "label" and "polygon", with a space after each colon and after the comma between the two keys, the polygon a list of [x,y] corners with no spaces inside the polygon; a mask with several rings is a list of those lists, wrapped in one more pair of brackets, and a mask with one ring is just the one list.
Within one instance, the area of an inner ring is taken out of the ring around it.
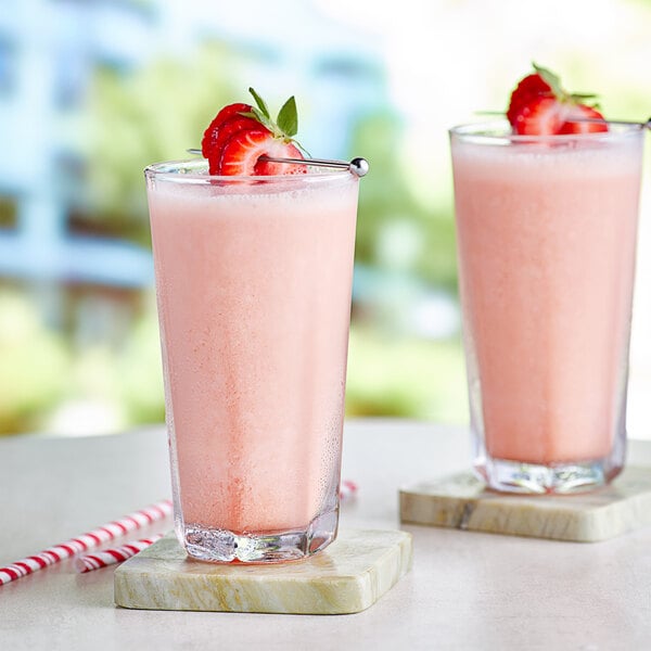
{"label": "marble coaster under the rear smoothie glass at right", "polygon": [[487,490],[468,472],[400,490],[404,523],[593,542],[651,525],[651,468],[629,467],[610,485],[577,495]]}

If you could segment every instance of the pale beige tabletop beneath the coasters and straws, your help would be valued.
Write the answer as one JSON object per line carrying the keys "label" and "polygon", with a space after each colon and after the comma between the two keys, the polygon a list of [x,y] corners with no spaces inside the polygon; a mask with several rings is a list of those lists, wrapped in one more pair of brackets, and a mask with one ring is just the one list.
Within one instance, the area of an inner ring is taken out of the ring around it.
{"label": "pale beige tabletop beneath the coasters and straws", "polygon": [[[399,527],[398,486],[462,470],[463,429],[346,423],[342,526]],[[629,460],[651,465],[651,444]],[[0,565],[169,494],[162,427],[0,439]],[[166,526],[164,528],[169,528]],[[355,615],[130,611],[66,561],[0,587],[0,649],[651,649],[651,528],[597,544],[406,526],[411,573]]]}

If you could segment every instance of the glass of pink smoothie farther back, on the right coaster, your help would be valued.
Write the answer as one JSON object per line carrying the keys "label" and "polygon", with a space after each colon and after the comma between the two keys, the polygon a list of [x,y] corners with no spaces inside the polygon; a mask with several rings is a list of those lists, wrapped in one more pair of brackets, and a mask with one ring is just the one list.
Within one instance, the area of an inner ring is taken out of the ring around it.
{"label": "glass of pink smoothie farther back, on the right coaster", "polygon": [[626,445],[643,130],[450,130],[474,467],[488,486],[608,483]]}

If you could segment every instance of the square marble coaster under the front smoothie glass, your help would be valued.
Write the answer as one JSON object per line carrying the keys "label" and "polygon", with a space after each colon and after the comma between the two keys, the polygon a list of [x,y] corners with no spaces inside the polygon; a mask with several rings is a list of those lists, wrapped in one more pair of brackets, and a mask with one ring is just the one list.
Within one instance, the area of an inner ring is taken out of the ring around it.
{"label": "square marble coaster under the front smoothie glass", "polygon": [[369,608],[411,566],[411,535],[340,531],[322,552],[270,565],[188,560],[174,534],[123,563],[115,603],[150,610],[344,614]]}

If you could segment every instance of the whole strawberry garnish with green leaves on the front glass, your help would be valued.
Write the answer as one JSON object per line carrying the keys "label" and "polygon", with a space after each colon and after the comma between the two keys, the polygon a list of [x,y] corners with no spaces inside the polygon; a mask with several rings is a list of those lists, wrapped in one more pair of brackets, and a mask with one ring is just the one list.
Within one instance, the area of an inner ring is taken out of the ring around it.
{"label": "whole strawberry garnish with green leaves on the front glass", "polygon": [[248,89],[256,106],[229,104],[215,116],[205,130],[202,153],[208,158],[212,175],[278,175],[302,174],[305,166],[260,161],[273,158],[303,158],[294,145],[293,136],[298,127],[296,102],[290,98],[275,120],[265,101]]}

